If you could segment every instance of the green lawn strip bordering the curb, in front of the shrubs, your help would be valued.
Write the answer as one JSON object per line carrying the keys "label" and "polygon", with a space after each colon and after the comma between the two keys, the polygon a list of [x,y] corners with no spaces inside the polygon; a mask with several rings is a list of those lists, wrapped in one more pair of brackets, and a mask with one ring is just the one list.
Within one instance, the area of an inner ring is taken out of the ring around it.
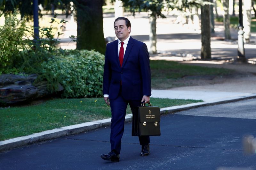
{"label": "green lawn strip bordering the curb, in front of the shrubs", "polygon": [[[151,98],[160,108],[200,102]],[[127,114],[132,113],[127,107]],[[30,135],[49,129],[111,117],[110,107],[103,98],[52,99],[22,107],[0,107],[0,141]]]}

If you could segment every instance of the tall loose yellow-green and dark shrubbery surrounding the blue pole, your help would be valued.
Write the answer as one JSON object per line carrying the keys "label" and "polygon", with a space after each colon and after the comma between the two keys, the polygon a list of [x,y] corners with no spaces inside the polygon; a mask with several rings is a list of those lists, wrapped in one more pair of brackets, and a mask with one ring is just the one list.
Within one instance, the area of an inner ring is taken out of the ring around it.
{"label": "tall loose yellow-green and dark shrubbery surrounding the blue pole", "polygon": [[34,37],[34,28],[26,27],[25,20],[20,20],[18,14],[14,11],[7,15],[5,25],[0,27],[0,74],[38,74],[41,64],[61,50],[57,47],[61,33],[57,32],[58,37],[54,38],[53,24],[57,21],[52,18],[49,28],[39,28],[39,39],[30,40]]}

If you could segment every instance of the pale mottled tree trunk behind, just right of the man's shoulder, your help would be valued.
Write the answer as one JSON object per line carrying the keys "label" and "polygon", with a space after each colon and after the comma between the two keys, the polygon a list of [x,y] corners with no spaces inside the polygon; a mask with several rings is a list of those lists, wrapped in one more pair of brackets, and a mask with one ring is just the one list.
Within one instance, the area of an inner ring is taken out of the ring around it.
{"label": "pale mottled tree trunk behind, just right of the man's shoulder", "polygon": [[149,44],[150,53],[156,54],[156,16],[149,17],[150,22],[150,33],[149,33]]}

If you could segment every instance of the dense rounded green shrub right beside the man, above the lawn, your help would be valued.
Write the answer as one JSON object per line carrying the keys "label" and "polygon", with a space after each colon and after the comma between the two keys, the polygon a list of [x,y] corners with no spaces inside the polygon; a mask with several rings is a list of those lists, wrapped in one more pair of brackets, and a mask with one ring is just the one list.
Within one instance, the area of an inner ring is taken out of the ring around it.
{"label": "dense rounded green shrub right beside the man, above the lawn", "polygon": [[88,50],[63,50],[42,64],[39,79],[46,79],[50,89],[64,87],[62,97],[102,96],[104,55]]}

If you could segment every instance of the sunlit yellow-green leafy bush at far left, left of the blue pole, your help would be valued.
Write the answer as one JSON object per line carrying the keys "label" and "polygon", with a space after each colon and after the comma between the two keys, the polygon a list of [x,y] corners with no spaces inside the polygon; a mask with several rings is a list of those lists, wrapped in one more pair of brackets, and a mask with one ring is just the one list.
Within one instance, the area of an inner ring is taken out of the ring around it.
{"label": "sunlit yellow-green leafy bush at far left, left of the blue pole", "polygon": [[7,15],[4,26],[0,26],[0,74],[16,72],[13,68],[20,58],[20,51],[24,49],[25,20],[17,18],[17,12]]}

